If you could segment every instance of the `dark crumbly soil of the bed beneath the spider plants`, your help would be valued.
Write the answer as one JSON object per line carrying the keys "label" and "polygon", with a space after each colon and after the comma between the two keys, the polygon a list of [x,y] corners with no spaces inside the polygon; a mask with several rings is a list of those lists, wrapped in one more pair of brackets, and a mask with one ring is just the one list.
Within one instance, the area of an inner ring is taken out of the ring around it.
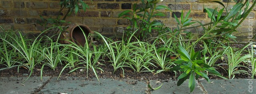
{"label": "dark crumbly soil of the bed beneath the spider plants", "polygon": [[[0,68],[4,68],[5,66],[0,65]],[[60,71],[62,70],[63,66],[58,66],[55,70],[52,70],[51,68],[49,68],[48,66],[44,67],[43,70],[43,76],[59,76]],[[228,74],[227,72],[218,67],[215,66],[217,71],[220,72],[222,74],[222,76],[225,76],[226,78],[228,78]],[[226,66],[222,66],[225,69]],[[180,75],[180,73],[177,73],[175,75],[175,72],[170,71],[170,72],[162,72],[162,73],[158,73],[158,74],[153,74],[151,72],[141,72],[141,73],[134,73],[134,71],[130,68],[124,68],[124,76],[122,73],[122,69],[117,70],[115,73],[113,73],[113,68],[109,63],[105,62],[105,66],[100,66],[100,68],[102,68],[103,71],[98,70],[98,76],[99,78],[112,78],[115,80],[120,80],[120,79],[136,79],[136,80],[177,80],[178,76]],[[246,68],[242,69],[242,68],[238,68],[239,70],[246,70]],[[36,68],[34,68],[32,76],[40,76],[40,70],[41,67],[40,66],[36,66]],[[82,72],[80,72],[80,70],[76,70],[74,72],[68,73],[70,72],[69,68],[66,68],[64,70],[64,72],[62,72],[62,74],[60,75],[60,77],[66,77],[66,76],[74,76],[74,77],[87,77],[87,72],[86,69],[82,70]],[[157,70],[157,69],[156,69]],[[248,69],[247,69],[248,71]],[[11,69],[6,69],[6,70],[1,70],[0,71],[0,76],[1,77],[27,77],[30,74],[30,72],[23,67],[19,68],[19,72],[18,72],[18,68],[11,68]],[[95,78],[95,74],[92,70],[88,71],[88,78]],[[242,79],[242,78],[248,78],[249,75],[248,74],[237,74],[235,76],[236,79]],[[222,79],[218,76],[213,76],[213,75],[209,75],[210,79]]]}

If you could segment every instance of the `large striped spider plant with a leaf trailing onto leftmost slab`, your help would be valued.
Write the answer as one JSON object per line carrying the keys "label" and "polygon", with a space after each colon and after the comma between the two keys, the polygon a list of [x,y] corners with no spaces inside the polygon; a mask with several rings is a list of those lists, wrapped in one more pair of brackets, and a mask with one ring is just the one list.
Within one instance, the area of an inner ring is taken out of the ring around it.
{"label": "large striped spider plant with a leaf trailing onto leftmost slab", "polygon": [[[54,28],[54,27],[52,27]],[[47,30],[50,30],[52,28],[48,28],[44,30],[41,34],[46,32]],[[8,40],[5,40],[3,38],[3,41],[6,43],[10,44],[14,49],[16,49],[19,52],[19,59],[21,63],[21,67],[28,69],[30,72],[28,78],[32,75],[33,73],[33,68],[36,66],[36,64],[39,63],[40,60],[40,52],[38,51],[39,48],[42,47],[40,44],[40,41],[42,38],[39,38],[41,34],[39,34],[34,41],[30,42],[30,40],[26,39],[26,36],[23,36],[20,31],[18,31],[19,36],[10,36],[10,39],[12,42],[9,42]],[[19,70],[20,67],[18,67]],[[26,80],[28,80],[28,78]],[[26,80],[24,82],[26,82]],[[23,82],[23,83],[24,83]]]}

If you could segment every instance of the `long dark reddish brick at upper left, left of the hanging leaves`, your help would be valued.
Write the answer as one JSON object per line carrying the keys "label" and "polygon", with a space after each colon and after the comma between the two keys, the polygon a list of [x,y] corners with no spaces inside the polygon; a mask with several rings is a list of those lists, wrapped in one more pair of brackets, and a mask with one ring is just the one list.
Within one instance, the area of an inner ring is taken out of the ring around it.
{"label": "long dark reddish brick at upper left, left of the hanging leaves", "polygon": [[33,9],[44,9],[44,8],[48,8],[48,3],[47,2],[27,2],[26,7],[33,8]]}

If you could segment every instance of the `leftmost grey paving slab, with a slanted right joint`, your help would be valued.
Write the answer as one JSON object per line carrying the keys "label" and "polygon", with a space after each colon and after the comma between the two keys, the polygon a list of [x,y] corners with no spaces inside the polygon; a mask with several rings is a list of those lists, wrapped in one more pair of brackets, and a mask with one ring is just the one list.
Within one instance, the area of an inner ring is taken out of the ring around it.
{"label": "leftmost grey paving slab, with a slanted right joint", "polygon": [[[38,90],[50,77],[0,77],[1,94],[31,94]],[[24,83],[22,83],[24,82]]]}

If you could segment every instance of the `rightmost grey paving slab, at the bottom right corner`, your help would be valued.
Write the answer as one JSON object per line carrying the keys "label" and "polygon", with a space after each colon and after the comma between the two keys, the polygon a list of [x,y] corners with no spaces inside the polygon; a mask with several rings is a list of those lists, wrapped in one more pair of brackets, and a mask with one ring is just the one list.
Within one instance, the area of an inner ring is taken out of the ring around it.
{"label": "rightmost grey paving slab, at the bottom right corner", "polygon": [[256,94],[256,79],[200,80],[208,94]]}

